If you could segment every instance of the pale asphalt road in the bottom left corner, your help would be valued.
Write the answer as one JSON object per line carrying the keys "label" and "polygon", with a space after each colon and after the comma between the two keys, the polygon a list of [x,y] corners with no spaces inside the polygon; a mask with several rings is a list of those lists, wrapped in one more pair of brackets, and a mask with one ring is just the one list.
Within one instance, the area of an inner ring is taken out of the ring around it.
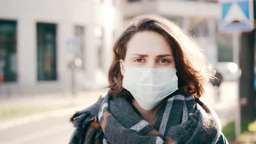
{"label": "pale asphalt road in the bottom left corner", "polygon": [[67,144],[74,128],[69,115],[0,130],[0,144]]}

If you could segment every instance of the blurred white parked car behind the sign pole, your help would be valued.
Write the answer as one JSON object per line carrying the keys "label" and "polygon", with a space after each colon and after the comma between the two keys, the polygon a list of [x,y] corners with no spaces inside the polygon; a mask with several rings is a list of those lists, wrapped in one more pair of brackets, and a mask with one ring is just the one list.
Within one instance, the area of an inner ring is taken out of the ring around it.
{"label": "blurred white parked car behind the sign pole", "polygon": [[241,69],[234,62],[217,62],[213,68],[220,72],[224,81],[236,81],[241,76]]}

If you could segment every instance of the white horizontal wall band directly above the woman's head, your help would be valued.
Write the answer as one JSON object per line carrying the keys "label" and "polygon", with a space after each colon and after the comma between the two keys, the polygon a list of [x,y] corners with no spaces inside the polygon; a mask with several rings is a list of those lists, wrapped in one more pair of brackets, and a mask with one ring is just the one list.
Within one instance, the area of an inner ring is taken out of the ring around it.
{"label": "white horizontal wall band directly above the woman's head", "polygon": [[157,13],[160,15],[217,18],[220,14],[218,3],[189,0],[141,0],[131,3],[124,0],[123,8],[125,17]]}

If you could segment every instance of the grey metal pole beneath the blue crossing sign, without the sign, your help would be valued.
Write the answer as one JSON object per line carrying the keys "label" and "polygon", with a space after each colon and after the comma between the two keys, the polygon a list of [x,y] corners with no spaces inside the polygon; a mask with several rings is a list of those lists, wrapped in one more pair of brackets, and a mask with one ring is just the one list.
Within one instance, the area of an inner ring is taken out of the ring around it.
{"label": "grey metal pole beneath the blue crossing sign, without the sign", "polygon": [[[240,53],[240,32],[239,31],[233,31],[233,62],[235,62],[239,69],[239,53]],[[239,90],[239,79],[240,76],[237,77],[237,98],[236,98],[236,113],[235,113],[235,131],[236,131],[236,137],[238,137],[241,134],[241,107],[240,107],[240,90]]]}

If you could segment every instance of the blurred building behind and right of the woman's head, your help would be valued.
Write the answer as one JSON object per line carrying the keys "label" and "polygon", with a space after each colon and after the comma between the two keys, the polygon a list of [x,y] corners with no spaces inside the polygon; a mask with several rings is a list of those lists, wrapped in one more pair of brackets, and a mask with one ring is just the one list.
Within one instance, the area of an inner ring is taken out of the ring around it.
{"label": "blurred building behind and right of the woman's head", "polygon": [[[123,0],[123,15],[125,23],[134,16],[141,14],[156,14],[174,21],[182,29],[194,37],[203,48],[207,64],[226,58],[226,53],[232,53],[230,34],[218,32],[218,18],[220,6],[217,0]],[[219,49],[224,45],[224,56],[219,57]],[[231,49],[230,49],[231,48]],[[230,52],[231,50],[231,52]],[[229,56],[227,61],[232,60]]]}

